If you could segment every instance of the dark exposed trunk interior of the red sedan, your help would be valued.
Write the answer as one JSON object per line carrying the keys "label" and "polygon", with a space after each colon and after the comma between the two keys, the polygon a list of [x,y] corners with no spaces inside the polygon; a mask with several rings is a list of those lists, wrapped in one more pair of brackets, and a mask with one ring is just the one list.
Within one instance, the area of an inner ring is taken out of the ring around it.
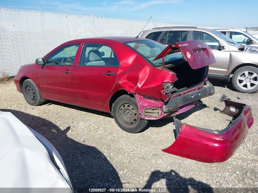
{"label": "dark exposed trunk interior of the red sedan", "polygon": [[207,73],[208,66],[194,70],[187,62],[184,62],[176,66],[168,67],[167,69],[176,73],[176,77],[178,78],[171,90],[173,94],[202,83]]}

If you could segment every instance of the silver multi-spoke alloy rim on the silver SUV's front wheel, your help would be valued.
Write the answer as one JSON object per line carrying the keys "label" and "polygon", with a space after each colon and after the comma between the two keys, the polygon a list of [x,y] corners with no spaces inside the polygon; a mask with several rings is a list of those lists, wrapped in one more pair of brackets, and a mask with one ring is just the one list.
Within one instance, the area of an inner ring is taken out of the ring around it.
{"label": "silver multi-spoke alloy rim on the silver SUV's front wheel", "polygon": [[244,71],[238,75],[237,84],[244,90],[251,90],[258,84],[258,75],[250,70]]}

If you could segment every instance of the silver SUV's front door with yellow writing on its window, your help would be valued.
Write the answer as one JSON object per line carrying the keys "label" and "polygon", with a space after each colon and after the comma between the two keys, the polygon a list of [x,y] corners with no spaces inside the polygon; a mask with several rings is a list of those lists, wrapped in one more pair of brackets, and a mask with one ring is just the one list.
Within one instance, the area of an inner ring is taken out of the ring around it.
{"label": "silver SUV's front door with yellow writing on its window", "polygon": [[216,63],[209,66],[209,74],[226,76],[230,56],[229,48],[225,47],[223,50],[218,50],[219,40],[202,31],[193,31],[192,38],[193,41],[205,42],[212,48]]}

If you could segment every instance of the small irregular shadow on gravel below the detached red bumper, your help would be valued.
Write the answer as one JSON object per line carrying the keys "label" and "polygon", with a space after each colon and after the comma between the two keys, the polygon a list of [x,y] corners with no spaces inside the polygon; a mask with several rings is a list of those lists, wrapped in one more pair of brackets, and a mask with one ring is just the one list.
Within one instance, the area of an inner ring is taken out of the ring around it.
{"label": "small irregular shadow on gravel below the detached red bumper", "polygon": [[161,179],[166,180],[166,185],[167,185],[166,190],[168,192],[173,192],[173,193],[177,193],[177,192],[212,193],[213,192],[213,189],[210,185],[205,184],[201,181],[197,181],[194,178],[184,178],[174,170],[170,170],[169,172],[161,172],[156,170],[152,172],[146,185],[144,186],[144,189],[150,189],[155,182]]}

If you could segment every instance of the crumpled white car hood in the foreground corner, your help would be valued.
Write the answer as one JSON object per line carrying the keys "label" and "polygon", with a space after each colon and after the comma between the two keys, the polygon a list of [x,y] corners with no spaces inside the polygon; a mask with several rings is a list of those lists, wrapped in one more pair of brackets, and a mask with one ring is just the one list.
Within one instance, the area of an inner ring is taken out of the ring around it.
{"label": "crumpled white car hood in the foreground corner", "polygon": [[[52,163],[47,149],[66,179]],[[72,192],[64,163],[50,142],[12,113],[1,111],[0,188],[62,188],[62,192]]]}

